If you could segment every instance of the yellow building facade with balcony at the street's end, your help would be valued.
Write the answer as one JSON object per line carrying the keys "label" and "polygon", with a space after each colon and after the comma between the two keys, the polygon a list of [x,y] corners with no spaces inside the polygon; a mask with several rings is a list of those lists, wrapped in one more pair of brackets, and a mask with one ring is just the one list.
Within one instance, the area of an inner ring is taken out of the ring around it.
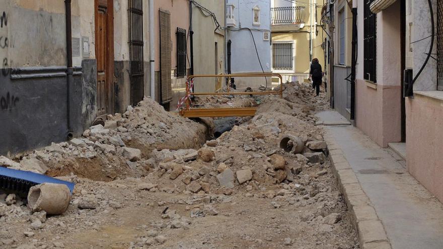
{"label": "yellow building facade with balcony at the street's end", "polygon": [[313,58],[325,71],[322,7],[316,0],[271,1],[272,71],[283,74],[284,81],[305,81]]}

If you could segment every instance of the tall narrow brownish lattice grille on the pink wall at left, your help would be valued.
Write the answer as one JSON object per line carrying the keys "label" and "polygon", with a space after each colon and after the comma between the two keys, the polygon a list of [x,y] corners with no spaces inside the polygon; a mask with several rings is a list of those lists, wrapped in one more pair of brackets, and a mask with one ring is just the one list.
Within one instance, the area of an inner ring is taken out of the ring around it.
{"label": "tall narrow brownish lattice grille on the pink wall at left", "polygon": [[160,103],[172,100],[171,79],[171,14],[160,10]]}

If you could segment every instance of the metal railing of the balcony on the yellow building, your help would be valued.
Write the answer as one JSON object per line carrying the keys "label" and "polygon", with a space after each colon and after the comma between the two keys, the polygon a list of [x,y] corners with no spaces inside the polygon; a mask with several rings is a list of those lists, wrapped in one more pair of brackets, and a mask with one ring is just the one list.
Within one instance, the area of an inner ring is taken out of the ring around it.
{"label": "metal railing of the balcony on the yellow building", "polygon": [[305,8],[306,7],[304,6],[271,8],[271,24],[284,25],[305,23]]}

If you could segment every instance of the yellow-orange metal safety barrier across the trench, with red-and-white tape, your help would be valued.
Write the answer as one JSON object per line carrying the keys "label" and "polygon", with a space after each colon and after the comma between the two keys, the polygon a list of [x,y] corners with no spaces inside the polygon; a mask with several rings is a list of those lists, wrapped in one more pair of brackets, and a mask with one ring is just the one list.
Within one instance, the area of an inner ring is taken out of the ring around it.
{"label": "yellow-orange metal safety barrier across the trench, with red-and-white tape", "polygon": [[[194,78],[207,78],[207,77],[224,77],[224,78],[228,78],[228,82],[231,82],[231,78],[233,78],[233,77],[278,77],[280,80],[280,89],[278,91],[232,92],[231,88],[230,88],[230,83],[229,83],[226,92],[194,93],[193,92]],[[254,107],[191,108],[190,99],[191,99],[191,96],[204,96],[204,95],[269,95],[269,94],[279,95],[280,98],[283,98],[283,78],[279,73],[240,73],[240,74],[191,75],[188,77],[188,79],[186,81],[186,96],[179,100],[178,109],[180,109],[181,116],[188,117],[188,118],[254,116],[255,112],[257,111],[257,108],[254,108]]]}

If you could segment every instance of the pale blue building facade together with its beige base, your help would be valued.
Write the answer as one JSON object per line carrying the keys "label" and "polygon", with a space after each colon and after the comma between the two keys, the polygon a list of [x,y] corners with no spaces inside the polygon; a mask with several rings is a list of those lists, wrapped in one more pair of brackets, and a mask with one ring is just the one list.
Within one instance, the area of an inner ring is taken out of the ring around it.
{"label": "pale blue building facade together with its beige base", "polygon": [[[226,1],[226,70],[271,72],[270,0]],[[236,77],[239,89],[271,85],[270,77]]]}

